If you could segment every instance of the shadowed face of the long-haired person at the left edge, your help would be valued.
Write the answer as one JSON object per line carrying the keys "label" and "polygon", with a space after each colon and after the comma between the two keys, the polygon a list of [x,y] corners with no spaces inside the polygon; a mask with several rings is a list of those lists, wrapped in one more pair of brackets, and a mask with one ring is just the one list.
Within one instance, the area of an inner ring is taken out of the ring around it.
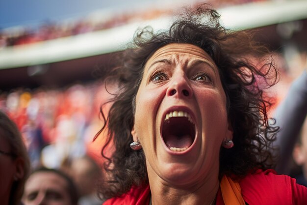
{"label": "shadowed face of the long-haired person at the left edge", "polygon": [[[0,151],[9,153],[10,145],[4,137],[4,133],[0,128]],[[11,192],[11,186],[14,182],[14,174],[16,166],[10,155],[0,152],[0,201],[8,200]]]}

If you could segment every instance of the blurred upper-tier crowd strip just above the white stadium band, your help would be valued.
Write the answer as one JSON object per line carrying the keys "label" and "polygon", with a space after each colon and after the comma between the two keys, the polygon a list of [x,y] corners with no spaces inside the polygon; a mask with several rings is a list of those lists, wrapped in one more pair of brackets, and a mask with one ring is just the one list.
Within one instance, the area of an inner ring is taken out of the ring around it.
{"label": "blurred upper-tier crowd strip just above the white stadium band", "polygon": [[[215,7],[223,7],[256,1],[265,0],[209,0],[208,3]],[[203,3],[203,1],[196,1],[193,6],[196,7],[200,2]],[[23,26],[11,29],[0,28],[0,48],[25,45],[97,30],[110,29],[140,20],[151,20],[159,16],[175,14],[178,12],[176,10],[178,7],[179,5],[165,7],[157,6],[151,7],[150,9],[130,9],[124,12],[108,12],[101,15],[89,15],[86,18],[74,21],[47,21],[39,28]]]}

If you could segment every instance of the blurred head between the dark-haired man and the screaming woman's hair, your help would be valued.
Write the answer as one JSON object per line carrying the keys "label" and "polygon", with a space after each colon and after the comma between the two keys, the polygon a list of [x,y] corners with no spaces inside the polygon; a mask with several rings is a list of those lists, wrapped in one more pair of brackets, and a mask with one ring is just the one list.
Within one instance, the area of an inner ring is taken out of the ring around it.
{"label": "blurred head between the dark-haired man and the screaming woman's hair", "polygon": [[70,173],[76,182],[80,196],[96,192],[97,182],[100,181],[101,168],[89,156],[75,158],[71,162]]}

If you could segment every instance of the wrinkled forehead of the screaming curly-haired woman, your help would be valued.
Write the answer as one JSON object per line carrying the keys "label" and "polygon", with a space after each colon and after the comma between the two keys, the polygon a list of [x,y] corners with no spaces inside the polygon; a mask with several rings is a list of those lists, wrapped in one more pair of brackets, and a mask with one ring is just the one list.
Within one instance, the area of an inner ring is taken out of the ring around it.
{"label": "wrinkled forehead of the screaming curly-haired woman", "polygon": [[169,59],[175,61],[175,63],[202,59],[214,66],[214,61],[203,49],[186,43],[171,43],[159,48],[154,52],[153,56],[148,59],[147,64],[159,59]]}

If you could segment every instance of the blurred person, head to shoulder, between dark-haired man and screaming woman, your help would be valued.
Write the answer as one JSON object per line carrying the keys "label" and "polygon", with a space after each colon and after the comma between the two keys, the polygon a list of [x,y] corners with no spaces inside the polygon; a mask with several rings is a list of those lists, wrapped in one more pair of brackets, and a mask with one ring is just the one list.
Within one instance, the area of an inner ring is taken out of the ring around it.
{"label": "blurred person, head to shoulder, between dark-haired man and screaming woman", "polygon": [[101,178],[101,168],[90,156],[75,158],[71,162],[70,173],[76,182],[80,199],[79,205],[101,205],[97,187]]}

